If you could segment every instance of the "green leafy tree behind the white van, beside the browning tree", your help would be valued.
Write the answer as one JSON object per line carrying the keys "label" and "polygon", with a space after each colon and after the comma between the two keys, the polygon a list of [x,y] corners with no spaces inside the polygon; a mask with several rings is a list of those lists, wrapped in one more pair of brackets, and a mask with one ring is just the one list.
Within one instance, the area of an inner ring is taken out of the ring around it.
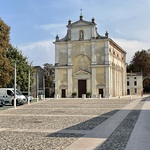
{"label": "green leafy tree behind the white van, beside the browning tree", "polygon": [[[7,57],[9,61],[11,62],[12,66],[14,66],[16,62],[16,72],[17,72],[17,86],[20,87],[21,91],[27,91],[28,90],[28,71],[30,69],[31,77],[33,76],[33,68],[28,63],[27,57],[23,56],[23,53],[21,50],[18,50],[18,48],[15,48],[11,46],[7,51]],[[8,84],[9,87],[13,87],[14,85],[14,71],[12,73],[12,80]],[[33,82],[33,79],[31,78],[31,84]]]}

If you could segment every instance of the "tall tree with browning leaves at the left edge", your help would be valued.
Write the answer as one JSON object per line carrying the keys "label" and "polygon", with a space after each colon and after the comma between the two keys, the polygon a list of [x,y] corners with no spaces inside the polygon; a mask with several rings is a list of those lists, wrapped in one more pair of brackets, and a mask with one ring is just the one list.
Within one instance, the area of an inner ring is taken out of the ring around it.
{"label": "tall tree with browning leaves at the left edge", "polygon": [[11,80],[12,66],[6,56],[10,44],[10,27],[0,18],[0,87],[5,87]]}

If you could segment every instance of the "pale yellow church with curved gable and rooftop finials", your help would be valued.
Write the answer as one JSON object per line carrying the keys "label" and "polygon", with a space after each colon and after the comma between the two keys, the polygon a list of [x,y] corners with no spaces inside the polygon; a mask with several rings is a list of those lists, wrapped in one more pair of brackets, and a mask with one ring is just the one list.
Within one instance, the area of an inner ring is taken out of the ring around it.
{"label": "pale yellow church with curved gable and rooftop finials", "polygon": [[95,19],[82,14],[68,21],[67,33],[55,39],[55,94],[60,98],[90,93],[91,97],[126,95],[126,52],[106,31],[98,33]]}

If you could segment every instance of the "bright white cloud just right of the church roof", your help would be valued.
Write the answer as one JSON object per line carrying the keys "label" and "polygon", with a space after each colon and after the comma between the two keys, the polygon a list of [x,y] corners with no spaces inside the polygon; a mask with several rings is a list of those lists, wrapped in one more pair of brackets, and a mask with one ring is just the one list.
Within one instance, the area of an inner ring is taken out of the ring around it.
{"label": "bright white cloud just right of the church roof", "polygon": [[113,40],[127,52],[127,57],[126,57],[127,63],[130,63],[135,52],[142,49],[147,50],[150,48],[150,43],[145,41],[125,40],[119,38],[113,38]]}

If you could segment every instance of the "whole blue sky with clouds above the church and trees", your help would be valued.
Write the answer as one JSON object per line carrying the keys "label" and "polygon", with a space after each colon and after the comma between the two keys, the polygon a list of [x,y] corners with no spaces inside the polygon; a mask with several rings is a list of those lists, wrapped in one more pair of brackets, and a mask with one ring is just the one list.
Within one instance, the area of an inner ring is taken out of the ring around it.
{"label": "whole blue sky with clouds above the church and trees", "polygon": [[0,18],[11,27],[10,42],[34,66],[55,63],[56,35],[67,33],[68,20],[95,18],[100,35],[126,52],[129,64],[135,52],[150,48],[150,0],[0,0]]}

